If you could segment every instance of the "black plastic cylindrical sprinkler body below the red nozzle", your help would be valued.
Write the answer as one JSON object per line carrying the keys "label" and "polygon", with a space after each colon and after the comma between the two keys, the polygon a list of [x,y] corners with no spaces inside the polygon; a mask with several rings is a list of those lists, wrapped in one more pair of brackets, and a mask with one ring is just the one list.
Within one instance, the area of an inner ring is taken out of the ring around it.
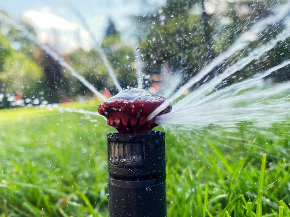
{"label": "black plastic cylindrical sprinkler body below the red nozzle", "polygon": [[164,132],[107,139],[109,217],[165,217]]}

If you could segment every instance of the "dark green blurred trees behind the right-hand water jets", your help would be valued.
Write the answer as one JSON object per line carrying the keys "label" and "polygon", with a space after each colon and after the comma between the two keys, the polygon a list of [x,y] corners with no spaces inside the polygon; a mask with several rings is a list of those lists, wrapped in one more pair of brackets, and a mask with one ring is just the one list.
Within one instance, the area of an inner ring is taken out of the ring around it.
{"label": "dark green blurred trees behind the right-hand water jets", "polygon": [[[172,73],[182,71],[186,82],[215,55],[225,51],[241,33],[258,20],[269,16],[272,8],[281,2],[283,1],[168,0],[166,5],[155,13],[137,17],[137,27],[141,33],[140,52],[145,62],[144,71],[147,74],[160,74],[163,64],[169,63],[170,71]],[[142,29],[149,31],[144,32]],[[283,25],[275,24],[267,28],[264,34],[252,36],[250,40],[253,42],[249,46],[216,67],[200,83],[221,73],[229,64],[269,41],[282,29]],[[289,49],[286,50],[284,54],[289,52]],[[272,50],[274,53],[280,51],[278,46]],[[285,58],[285,55],[283,56]],[[259,61],[253,60],[242,71],[236,73],[239,76],[234,75],[233,78],[227,79],[227,84],[260,71],[262,67],[259,62],[263,62],[263,69],[267,69],[281,60],[277,55],[266,60],[264,56]],[[285,73],[281,75],[284,80],[287,79]]]}

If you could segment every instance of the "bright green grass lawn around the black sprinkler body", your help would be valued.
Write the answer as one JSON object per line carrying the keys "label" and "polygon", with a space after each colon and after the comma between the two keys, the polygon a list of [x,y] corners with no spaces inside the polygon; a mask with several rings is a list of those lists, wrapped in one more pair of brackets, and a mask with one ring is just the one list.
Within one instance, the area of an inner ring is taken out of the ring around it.
{"label": "bright green grass lawn around the black sprinkler body", "polygon": [[[108,216],[106,134],[113,129],[92,118],[44,108],[0,111],[1,217]],[[166,131],[168,216],[290,217],[289,126]]]}

